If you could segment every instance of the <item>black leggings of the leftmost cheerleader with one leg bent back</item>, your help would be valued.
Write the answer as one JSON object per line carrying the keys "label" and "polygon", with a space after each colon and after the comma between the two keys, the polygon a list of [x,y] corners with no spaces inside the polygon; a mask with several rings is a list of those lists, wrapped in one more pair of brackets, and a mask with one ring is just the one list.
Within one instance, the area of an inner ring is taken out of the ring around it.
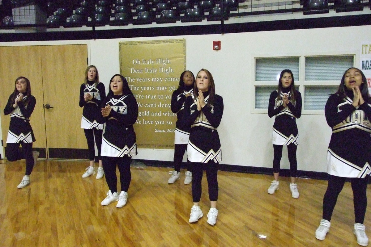
{"label": "black leggings of the leftmost cheerleader with one leg bent back", "polygon": [[[33,143],[7,143],[6,144],[6,158],[9,161],[26,159],[26,175],[30,175],[33,169],[33,156],[32,156]],[[19,145],[22,145],[20,151]]]}

